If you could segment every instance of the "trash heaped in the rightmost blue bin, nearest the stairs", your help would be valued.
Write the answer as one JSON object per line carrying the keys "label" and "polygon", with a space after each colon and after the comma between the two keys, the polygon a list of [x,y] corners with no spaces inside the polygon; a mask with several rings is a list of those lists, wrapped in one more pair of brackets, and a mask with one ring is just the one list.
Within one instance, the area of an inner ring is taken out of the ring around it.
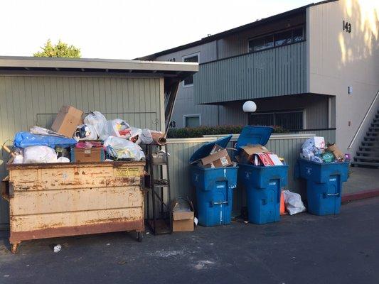
{"label": "trash heaped in the rightmost blue bin, nearest the stairs", "polygon": [[325,144],[324,137],[308,138],[301,146],[300,158],[316,163],[338,163],[350,161],[349,154],[343,154],[336,144]]}

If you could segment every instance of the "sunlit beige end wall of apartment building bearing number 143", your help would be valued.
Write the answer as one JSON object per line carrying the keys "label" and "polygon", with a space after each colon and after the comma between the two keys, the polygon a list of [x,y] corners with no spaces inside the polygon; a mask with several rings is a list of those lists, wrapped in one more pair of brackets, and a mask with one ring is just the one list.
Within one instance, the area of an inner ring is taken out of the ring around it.
{"label": "sunlit beige end wall of apartment building bearing number 143", "polygon": [[[311,6],[306,16],[307,89],[336,96],[337,143],[348,152],[379,90],[379,1],[340,0]],[[351,23],[351,33],[343,31],[343,21]],[[348,86],[353,88],[352,94],[348,94]],[[379,102],[376,106],[375,112]],[[359,132],[351,153],[361,144],[372,116]]]}

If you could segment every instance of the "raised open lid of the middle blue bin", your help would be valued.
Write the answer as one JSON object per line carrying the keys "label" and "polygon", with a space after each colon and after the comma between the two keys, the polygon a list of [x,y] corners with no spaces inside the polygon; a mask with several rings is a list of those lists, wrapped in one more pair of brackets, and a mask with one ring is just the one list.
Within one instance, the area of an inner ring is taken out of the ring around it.
{"label": "raised open lid of the middle blue bin", "polygon": [[245,126],[238,137],[235,148],[240,150],[242,146],[260,144],[265,146],[272,133],[269,126]]}

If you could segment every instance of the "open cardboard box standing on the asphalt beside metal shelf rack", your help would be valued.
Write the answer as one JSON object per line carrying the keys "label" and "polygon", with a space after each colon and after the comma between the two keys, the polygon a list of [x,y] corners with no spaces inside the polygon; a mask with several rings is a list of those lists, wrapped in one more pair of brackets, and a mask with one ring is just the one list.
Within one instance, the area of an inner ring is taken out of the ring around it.
{"label": "open cardboard box standing on the asphalt beside metal shelf rack", "polygon": [[171,203],[172,231],[193,231],[193,204],[189,200],[176,199]]}

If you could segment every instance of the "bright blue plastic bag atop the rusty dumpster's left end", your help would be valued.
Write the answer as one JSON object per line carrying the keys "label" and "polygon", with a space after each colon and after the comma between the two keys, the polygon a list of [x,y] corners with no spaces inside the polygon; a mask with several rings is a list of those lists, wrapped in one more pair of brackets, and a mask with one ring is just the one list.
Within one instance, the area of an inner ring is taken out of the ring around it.
{"label": "bright blue plastic bag atop the rusty dumpster's left end", "polygon": [[28,146],[48,146],[51,148],[60,146],[67,148],[76,143],[77,141],[73,138],[32,134],[26,131],[18,132],[14,136],[14,146],[18,148],[26,148]]}

